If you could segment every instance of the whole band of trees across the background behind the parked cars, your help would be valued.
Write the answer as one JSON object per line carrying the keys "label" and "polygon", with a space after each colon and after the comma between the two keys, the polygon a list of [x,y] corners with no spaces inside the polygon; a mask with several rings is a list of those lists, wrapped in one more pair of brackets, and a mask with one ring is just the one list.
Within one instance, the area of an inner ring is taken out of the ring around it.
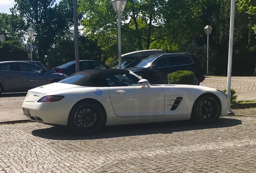
{"label": "whole band of trees across the background behind the parked cars", "polygon": [[[35,29],[36,60],[49,67],[74,60],[73,2],[62,0],[15,0],[12,14],[0,13],[0,31],[6,42],[0,51],[23,51],[26,30]],[[237,0],[233,42],[232,75],[252,75],[256,64],[256,1]],[[206,66],[202,46],[209,35],[209,71],[227,74],[230,1],[226,0],[128,0],[121,14],[122,54],[143,49],[196,54]],[[95,59],[114,66],[118,58],[118,15],[111,0],[79,0],[78,19],[81,59]],[[11,46],[15,44],[15,46]],[[14,50],[15,48],[15,50]],[[1,60],[4,58],[1,57]],[[14,59],[20,59],[14,58]]]}

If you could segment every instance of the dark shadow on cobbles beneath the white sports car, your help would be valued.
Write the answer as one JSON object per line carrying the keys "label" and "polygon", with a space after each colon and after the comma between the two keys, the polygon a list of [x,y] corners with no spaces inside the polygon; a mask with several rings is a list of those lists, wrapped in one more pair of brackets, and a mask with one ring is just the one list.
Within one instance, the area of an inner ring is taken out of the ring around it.
{"label": "dark shadow on cobbles beneath the white sports car", "polygon": [[191,131],[200,129],[213,129],[232,127],[242,124],[241,120],[231,118],[220,118],[219,121],[209,125],[198,125],[191,121],[171,121],[163,123],[147,123],[134,125],[107,126],[93,135],[77,135],[66,127],[49,127],[32,131],[32,135],[54,140],[90,140],[107,139],[115,137],[152,135],[152,134],[171,134],[173,132]]}

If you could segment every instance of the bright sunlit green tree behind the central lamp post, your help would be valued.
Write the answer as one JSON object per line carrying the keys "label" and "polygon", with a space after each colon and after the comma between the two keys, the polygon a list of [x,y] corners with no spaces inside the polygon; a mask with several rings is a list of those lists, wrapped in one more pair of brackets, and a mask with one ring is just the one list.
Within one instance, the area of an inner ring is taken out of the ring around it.
{"label": "bright sunlit green tree behind the central lamp post", "polygon": [[[151,48],[151,44],[161,39],[159,10],[165,0],[130,0],[121,15],[122,52]],[[108,57],[117,56],[118,22],[117,14],[109,0],[81,0],[78,11],[85,16],[81,24],[84,32]]]}

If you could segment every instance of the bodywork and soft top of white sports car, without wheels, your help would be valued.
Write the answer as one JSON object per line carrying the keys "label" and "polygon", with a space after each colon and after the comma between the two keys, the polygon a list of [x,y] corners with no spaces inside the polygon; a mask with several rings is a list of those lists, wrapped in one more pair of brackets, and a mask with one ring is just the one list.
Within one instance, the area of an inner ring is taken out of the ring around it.
{"label": "bodywork and soft top of white sports car, without wheels", "polygon": [[[108,80],[109,75],[113,74],[117,77],[117,74],[122,74],[124,77],[123,80],[120,78],[122,81],[127,81],[132,75],[138,81],[145,82],[145,85],[111,86],[111,83],[90,82],[94,78]],[[85,75],[85,77],[74,80],[72,77],[76,75]],[[63,83],[68,82],[68,78],[72,79],[72,82]],[[24,116],[40,123],[68,125],[68,116],[74,105],[84,100],[93,100],[100,103],[106,112],[105,125],[189,120],[195,100],[205,93],[213,94],[219,99],[220,116],[228,113],[227,95],[208,87],[179,84],[151,85],[133,72],[122,69],[85,70],[68,78],[29,90],[22,108],[28,109],[30,116]],[[64,96],[64,98],[50,103],[37,102],[49,95]]]}

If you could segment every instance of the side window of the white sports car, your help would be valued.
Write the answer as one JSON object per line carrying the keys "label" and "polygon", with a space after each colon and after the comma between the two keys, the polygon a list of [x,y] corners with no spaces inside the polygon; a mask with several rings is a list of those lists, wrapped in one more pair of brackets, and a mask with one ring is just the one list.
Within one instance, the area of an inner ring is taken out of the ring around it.
{"label": "side window of the white sports car", "polygon": [[139,78],[131,74],[108,74],[105,80],[109,87],[125,87],[125,86],[138,86]]}

